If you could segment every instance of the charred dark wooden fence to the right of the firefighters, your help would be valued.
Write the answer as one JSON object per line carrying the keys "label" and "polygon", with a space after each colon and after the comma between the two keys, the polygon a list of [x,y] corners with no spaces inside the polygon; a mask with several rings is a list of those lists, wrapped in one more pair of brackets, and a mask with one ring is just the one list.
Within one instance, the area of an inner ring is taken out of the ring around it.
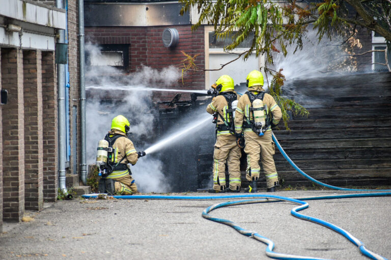
{"label": "charred dark wooden fence to the right of the firefighters", "polygon": [[[296,80],[285,88],[310,115],[293,116],[290,131],[274,134],[303,172],[336,186],[391,184],[391,73]],[[312,185],[279,151],[274,159],[284,185]]]}

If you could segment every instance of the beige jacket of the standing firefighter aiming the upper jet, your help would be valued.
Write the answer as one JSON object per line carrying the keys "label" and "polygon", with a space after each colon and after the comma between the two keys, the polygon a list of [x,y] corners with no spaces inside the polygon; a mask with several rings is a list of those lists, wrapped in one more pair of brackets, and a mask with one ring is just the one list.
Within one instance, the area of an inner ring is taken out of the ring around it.
{"label": "beige jacket of the standing firefighter aiming the upper jet", "polygon": [[[236,94],[236,99],[239,100],[240,95],[236,93],[234,90],[227,90],[224,92],[233,92]],[[228,103],[226,98],[223,95],[217,95],[213,98],[212,102],[206,107],[206,112],[209,114],[213,114],[214,112],[218,112],[228,123],[231,123],[231,118],[227,113]],[[221,116],[217,116],[217,125],[224,125],[224,121],[222,121]],[[217,131],[217,136],[229,136],[232,135],[229,131]]]}

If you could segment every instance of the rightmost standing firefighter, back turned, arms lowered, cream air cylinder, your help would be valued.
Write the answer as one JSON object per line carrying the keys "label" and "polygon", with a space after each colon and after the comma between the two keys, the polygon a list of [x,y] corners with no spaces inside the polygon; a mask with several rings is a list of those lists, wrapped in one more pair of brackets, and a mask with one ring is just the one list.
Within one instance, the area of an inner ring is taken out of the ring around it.
{"label": "rightmost standing firefighter, back turned, arms lowered, cream air cylinder", "polygon": [[240,141],[243,137],[247,154],[246,179],[250,182],[246,191],[257,192],[257,181],[261,171],[259,159],[266,177],[267,191],[275,191],[278,175],[274,165],[274,143],[271,127],[276,126],[282,117],[281,109],[271,95],[265,93],[263,76],[259,71],[247,75],[248,91],[241,96],[236,108],[235,131]]}

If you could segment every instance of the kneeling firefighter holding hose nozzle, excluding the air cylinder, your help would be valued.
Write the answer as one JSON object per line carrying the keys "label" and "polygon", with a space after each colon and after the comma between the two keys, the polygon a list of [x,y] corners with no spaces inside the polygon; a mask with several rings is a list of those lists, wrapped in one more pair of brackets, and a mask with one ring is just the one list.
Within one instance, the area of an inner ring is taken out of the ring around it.
{"label": "kneeling firefighter holding hose nozzle, excluding the air cylinder", "polygon": [[[111,130],[105,136],[109,147],[113,148],[113,153],[107,161],[108,175],[102,178],[99,183],[105,183],[108,194],[131,195],[137,192],[137,186],[131,176],[128,164],[135,165],[137,159],[145,155],[144,151],[136,152],[132,141],[127,138],[129,131],[129,121],[126,117],[118,115],[111,121]],[[99,187],[101,189],[101,187]],[[104,193],[102,190],[99,192]]]}

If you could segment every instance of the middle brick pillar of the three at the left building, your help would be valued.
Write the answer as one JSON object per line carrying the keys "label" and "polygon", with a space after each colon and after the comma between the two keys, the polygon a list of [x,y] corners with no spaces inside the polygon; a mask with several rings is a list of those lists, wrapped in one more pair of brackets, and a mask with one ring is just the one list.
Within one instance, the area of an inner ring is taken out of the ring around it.
{"label": "middle brick pillar of the three at the left building", "polygon": [[23,51],[24,207],[43,207],[43,136],[41,51]]}

